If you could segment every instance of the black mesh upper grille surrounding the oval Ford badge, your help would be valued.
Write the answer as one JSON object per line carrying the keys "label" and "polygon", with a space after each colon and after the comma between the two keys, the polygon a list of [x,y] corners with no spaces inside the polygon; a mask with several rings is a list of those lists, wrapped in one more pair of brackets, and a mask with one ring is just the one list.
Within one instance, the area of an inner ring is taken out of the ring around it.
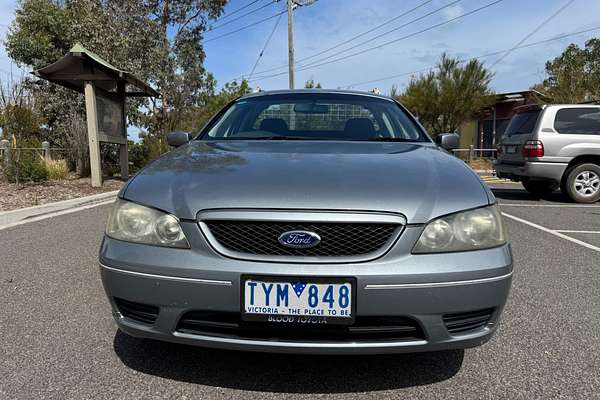
{"label": "black mesh upper grille surrounding the oval Ford badge", "polygon": [[[205,221],[219,244],[237,253],[266,256],[347,257],[374,253],[389,243],[401,226],[385,223],[306,223],[272,221]],[[288,231],[310,231],[321,243],[294,249],[279,243]]]}

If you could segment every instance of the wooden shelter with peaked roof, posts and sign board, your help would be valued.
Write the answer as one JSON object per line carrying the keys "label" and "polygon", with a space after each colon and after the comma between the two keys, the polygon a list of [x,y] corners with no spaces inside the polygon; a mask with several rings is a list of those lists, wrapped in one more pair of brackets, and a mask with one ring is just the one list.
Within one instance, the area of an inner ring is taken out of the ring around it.
{"label": "wooden shelter with peaked roof, posts and sign board", "polygon": [[80,44],[33,74],[85,95],[92,186],[102,186],[100,143],[119,145],[121,177],[128,179],[126,98],[159,97],[160,94]]}

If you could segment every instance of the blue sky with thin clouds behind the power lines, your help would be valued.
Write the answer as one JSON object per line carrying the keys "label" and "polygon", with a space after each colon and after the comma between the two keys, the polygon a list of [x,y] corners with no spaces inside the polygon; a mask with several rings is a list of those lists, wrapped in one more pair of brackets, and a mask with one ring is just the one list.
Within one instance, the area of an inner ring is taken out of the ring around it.
{"label": "blue sky with thin clouds behind the power lines", "polygon": [[[271,0],[260,0],[247,10],[258,8],[269,1]],[[398,27],[452,1],[432,0],[417,11],[362,37],[360,40],[339,48],[338,51]],[[4,0],[3,2],[8,4],[0,10],[0,32],[2,32],[2,36],[6,31],[5,25],[9,24],[13,18],[16,0]],[[235,10],[249,2],[250,0],[231,0],[226,7],[226,11]],[[333,47],[422,2],[423,0],[319,0],[311,6],[299,8],[294,13],[296,58],[301,59],[320,50]],[[372,43],[358,47],[352,52],[411,34],[489,2],[491,0],[462,0],[454,6],[385,35]],[[455,56],[471,57],[508,49],[565,3],[567,3],[567,0],[504,0],[459,21],[363,55],[318,68],[299,71],[296,77],[296,85],[302,86],[307,79],[313,78],[321,82],[324,87],[347,87],[357,82],[427,68],[435,64],[443,51]],[[284,1],[274,3],[242,20],[207,33],[206,38],[227,33],[269,17],[283,10],[284,6]],[[599,15],[600,1],[576,0],[528,42],[600,26]],[[233,17],[230,18],[233,19]],[[225,19],[222,22],[226,21],[228,20]],[[247,75],[250,72],[260,49],[275,25],[275,21],[276,19],[271,19],[250,29],[205,44],[206,67],[215,74],[220,84],[242,74]],[[286,23],[286,15],[283,15],[271,43],[260,60],[257,71],[287,63]],[[502,63],[494,67],[494,89],[499,92],[527,89],[543,79],[546,60],[560,54],[569,43],[575,42],[582,45],[586,39],[594,35],[600,37],[600,30],[524,50],[516,50]],[[320,59],[328,54],[323,54],[313,60]],[[486,61],[491,65],[496,59],[497,57],[493,57],[486,59]],[[15,74],[19,73],[18,68],[14,65],[12,70]],[[10,60],[7,59],[2,48],[0,49],[0,77],[3,80],[7,79],[7,73],[10,71]],[[274,72],[279,71],[285,71],[285,68]],[[353,88],[369,90],[377,87],[382,92],[388,92],[393,84],[402,87],[409,79],[410,76],[404,76],[366,85],[355,85]],[[287,87],[287,76],[282,75],[255,81],[252,84],[254,86],[258,85],[262,89],[285,88]]]}

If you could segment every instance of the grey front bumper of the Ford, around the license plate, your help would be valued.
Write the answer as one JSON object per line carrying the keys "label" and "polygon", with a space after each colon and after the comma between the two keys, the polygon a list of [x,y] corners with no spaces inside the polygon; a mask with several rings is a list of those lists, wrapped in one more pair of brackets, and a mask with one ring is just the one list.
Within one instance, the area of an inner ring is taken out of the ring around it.
{"label": "grey front bumper of the Ford, around the license plate", "polygon": [[[420,228],[407,228],[403,236],[406,241],[419,233]],[[234,350],[325,354],[447,350],[474,347],[489,340],[510,290],[510,247],[420,256],[406,255],[410,252],[401,247],[369,263],[302,265],[236,261],[210,257],[207,252],[199,256],[194,250],[105,238],[100,272],[119,328],[137,337]],[[180,319],[189,311],[239,312],[242,274],[354,277],[357,317],[410,318],[424,335],[418,340],[337,342],[178,331]],[[115,298],[158,306],[160,312],[154,323],[141,323],[123,316]],[[448,331],[444,315],[481,309],[493,310],[485,325],[459,334]]]}

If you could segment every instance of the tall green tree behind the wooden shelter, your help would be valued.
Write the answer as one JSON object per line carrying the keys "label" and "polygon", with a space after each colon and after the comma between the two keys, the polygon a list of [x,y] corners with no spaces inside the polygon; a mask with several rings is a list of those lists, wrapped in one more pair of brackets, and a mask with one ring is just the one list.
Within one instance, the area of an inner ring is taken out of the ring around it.
{"label": "tall green tree behind the wooden shelter", "polygon": [[[189,109],[214,90],[204,69],[203,34],[226,0],[21,0],[5,47],[19,65],[37,69],[77,42],[148,81],[160,99],[128,101],[131,124],[156,136],[189,123]],[[85,121],[83,98],[47,82],[30,82],[48,134],[67,138],[67,119]],[[70,144],[70,143],[68,143]],[[166,145],[165,150],[166,150]]]}

